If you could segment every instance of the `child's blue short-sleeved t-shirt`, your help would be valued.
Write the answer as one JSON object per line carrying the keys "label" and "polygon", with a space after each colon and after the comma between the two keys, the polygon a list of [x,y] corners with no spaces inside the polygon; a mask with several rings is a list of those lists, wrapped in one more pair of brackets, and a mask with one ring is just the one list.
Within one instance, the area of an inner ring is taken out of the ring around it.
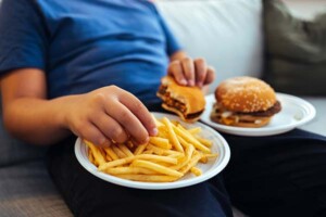
{"label": "child's blue short-sleeved t-shirt", "polygon": [[116,85],[153,101],[179,46],[147,0],[3,0],[0,74],[46,73],[49,99]]}

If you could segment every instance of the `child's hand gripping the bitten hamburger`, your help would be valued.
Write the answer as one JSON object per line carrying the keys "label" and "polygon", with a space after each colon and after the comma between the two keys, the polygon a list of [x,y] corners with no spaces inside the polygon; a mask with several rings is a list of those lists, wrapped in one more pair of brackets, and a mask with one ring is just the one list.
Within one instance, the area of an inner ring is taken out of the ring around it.
{"label": "child's hand gripping the bitten hamburger", "polygon": [[198,86],[211,84],[215,78],[214,69],[206,65],[203,59],[185,58],[171,62],[167,74],[179,85]]}

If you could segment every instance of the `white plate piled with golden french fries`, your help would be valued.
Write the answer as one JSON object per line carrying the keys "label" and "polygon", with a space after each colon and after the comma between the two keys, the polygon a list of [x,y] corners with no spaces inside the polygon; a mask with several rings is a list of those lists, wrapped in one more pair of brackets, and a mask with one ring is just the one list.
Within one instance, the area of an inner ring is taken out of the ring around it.
{"label": "white plate piled with golden french fries", "polygon": [[78,138],[75,154],[82,166],[111,183],[136,189],[176,189],[205,181],[227,165],[226,140],[201,123],[185,123],[152,113],[159,133],[146,144],[131,141],[101,148]]}

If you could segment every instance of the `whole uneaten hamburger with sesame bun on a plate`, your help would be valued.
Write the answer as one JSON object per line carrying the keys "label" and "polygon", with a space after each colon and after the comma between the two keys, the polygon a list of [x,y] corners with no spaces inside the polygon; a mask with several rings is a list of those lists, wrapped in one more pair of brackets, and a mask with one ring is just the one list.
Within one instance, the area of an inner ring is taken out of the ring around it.
{"label": "whole uneaten hamburger with sesame bun on a plate", "polygon": [[237,127],[263,127],[281,110],[274,89],[261,79],[234,77],[215,90],[211,119]]}

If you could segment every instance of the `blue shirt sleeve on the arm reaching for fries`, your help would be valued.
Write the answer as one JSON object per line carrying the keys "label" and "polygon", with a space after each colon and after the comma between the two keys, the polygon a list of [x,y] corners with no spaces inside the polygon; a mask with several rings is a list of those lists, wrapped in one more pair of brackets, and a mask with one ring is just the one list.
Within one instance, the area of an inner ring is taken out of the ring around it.
{"label": "blue shirt sleeve on the arm reaching for fries", "polygon": [[3,0],[0,4],[0,75],[23,67],[45,71],[47,31],[33,2]]}

